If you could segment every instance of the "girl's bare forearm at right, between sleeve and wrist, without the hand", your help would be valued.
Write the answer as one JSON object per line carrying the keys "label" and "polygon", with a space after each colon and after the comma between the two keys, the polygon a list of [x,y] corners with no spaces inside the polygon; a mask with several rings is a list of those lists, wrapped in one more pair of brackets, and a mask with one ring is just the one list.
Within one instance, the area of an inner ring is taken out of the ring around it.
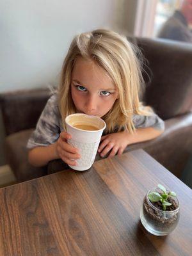
{"label": "girl's bare forearm at right, between sleeve and wrist, without the hand", "polygon": [[152,127],[136,129],[134,134],[129,134],[129,144],[138,143],[141,141],[152,140],[163,133],[162,130],[157,130]]}

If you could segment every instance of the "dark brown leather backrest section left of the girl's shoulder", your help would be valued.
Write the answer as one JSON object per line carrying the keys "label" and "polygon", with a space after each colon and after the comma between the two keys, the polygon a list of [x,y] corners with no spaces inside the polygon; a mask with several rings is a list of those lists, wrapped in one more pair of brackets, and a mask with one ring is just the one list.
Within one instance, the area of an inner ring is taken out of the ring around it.
{"label": "dark brown leather backrest section left of the girl's shoulder", "polygon": [[6,135],[35,127],[50,95],[48,88],[0,93]]}

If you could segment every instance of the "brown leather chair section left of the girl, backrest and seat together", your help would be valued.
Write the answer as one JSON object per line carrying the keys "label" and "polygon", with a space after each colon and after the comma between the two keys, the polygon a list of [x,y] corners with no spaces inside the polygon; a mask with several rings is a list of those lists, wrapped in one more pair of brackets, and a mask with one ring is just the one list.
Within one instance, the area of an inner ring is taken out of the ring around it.
{"label": "brown leather chair section left of the girl, backrest and seat together", "polygon": [[28,163],[26,143],[49,95],[47,88],[0,94],[0,106],[6,132],[4,153],[7,163],[19,182],[47,174],[47,166],[35,168]]}

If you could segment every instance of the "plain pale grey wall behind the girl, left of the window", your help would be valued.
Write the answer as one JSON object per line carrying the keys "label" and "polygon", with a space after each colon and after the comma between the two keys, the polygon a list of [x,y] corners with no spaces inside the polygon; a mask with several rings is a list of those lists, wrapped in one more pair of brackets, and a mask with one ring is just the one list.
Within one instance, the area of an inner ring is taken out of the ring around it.
{"label": "plain pale grey wall behind the girl, left of the window", "polygon": [[[1,1],[0,93],[57,84],[72,37],[95,28],[132,32],[135,3],[134,0]],[[0,131],[0,140],[1,136]]]}

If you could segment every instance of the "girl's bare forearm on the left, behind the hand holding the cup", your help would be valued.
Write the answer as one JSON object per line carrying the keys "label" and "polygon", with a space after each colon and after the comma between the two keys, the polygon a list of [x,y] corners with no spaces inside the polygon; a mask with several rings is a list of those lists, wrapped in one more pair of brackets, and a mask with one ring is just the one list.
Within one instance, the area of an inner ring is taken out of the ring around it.
{"label": "girl's bare forearm on the left, behind the hand holding the cup", "polygon": [[35,167],[45,166],[49,161],[58,159],[56,143],[46,147],[36,147],[29,150],[28,161]]}

